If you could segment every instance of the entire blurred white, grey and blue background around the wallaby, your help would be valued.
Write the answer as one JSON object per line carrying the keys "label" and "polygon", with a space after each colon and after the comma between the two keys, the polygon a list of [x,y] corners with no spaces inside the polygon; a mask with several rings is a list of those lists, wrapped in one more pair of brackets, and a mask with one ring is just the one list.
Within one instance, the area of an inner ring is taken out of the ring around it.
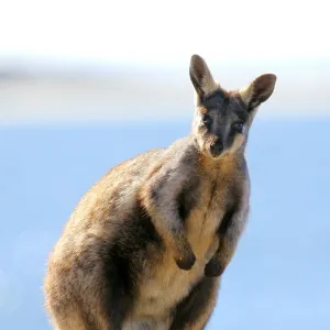
{"label": "entire blurred white, grey and blue background around the wallaby", "polygon": [[0,328],[51,329],[42,285],[64,223],[110,167],[188,133],[197,53],[228,89],[278,77],[208,329],[330,329],[327,4],[2,0]]}

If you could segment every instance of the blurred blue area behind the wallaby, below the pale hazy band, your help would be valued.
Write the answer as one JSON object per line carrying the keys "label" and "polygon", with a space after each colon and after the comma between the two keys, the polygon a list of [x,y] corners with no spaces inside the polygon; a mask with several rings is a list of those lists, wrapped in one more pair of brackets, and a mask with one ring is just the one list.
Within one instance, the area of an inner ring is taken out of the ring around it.
{"label": "blurred blue area behind the wallaby, below the pale hazy band", "polygon": [[[117,163],[188,130],[188,121],[0,129],[1,329],[51,329],[45,262],[79,198]],[[255,120],[250,221],[208,329],[330,329],[329,143],[329,120]]]}

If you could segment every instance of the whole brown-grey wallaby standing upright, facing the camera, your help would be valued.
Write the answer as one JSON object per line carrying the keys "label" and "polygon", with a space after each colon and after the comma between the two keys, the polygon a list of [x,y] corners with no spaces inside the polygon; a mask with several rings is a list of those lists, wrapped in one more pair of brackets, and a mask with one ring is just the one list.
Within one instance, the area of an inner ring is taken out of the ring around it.
{"label": "whole brown-grey wallaby standing upright, facing the camera", "polygon": [[227,91],[198,55],[189,74],[189,135],[112,168],[66,223],[44,286],[55,329],[205,329],[249,213],[249,130],[276,76]]}

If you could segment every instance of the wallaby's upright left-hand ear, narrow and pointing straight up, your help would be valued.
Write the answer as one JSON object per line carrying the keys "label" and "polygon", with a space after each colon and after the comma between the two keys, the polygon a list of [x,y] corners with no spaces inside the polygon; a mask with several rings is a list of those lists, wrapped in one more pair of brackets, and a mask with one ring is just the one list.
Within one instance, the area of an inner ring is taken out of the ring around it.
{"label": "wallaby's upright left-hand ear, narrow and pointing straight up", "polygon": [[200,98],[219,88],[206,62],[199,55],[191,56],[189,74],[195,90]]}

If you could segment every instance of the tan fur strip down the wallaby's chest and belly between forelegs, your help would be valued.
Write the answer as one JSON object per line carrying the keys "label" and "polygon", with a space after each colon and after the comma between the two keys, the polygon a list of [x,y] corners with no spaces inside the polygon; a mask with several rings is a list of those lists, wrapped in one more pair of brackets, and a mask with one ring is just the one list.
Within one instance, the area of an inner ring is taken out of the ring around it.
{"label": "tan fur strip down the wallaby's chest and belly between forelegs", "polygon": [[145,320],[156,317],[167,320],[170,309],[202,278],[205,266],[219,244],[216,232],[224,215],[228,195],[228,188],[221,180],[211,184],[206,180],[202,185],[202,194],[199,194],[198,202],[185,221],[186,234],[197,257],[193,270],[179,270],[168,253],[153,267],[146,265],[132,319]]}

